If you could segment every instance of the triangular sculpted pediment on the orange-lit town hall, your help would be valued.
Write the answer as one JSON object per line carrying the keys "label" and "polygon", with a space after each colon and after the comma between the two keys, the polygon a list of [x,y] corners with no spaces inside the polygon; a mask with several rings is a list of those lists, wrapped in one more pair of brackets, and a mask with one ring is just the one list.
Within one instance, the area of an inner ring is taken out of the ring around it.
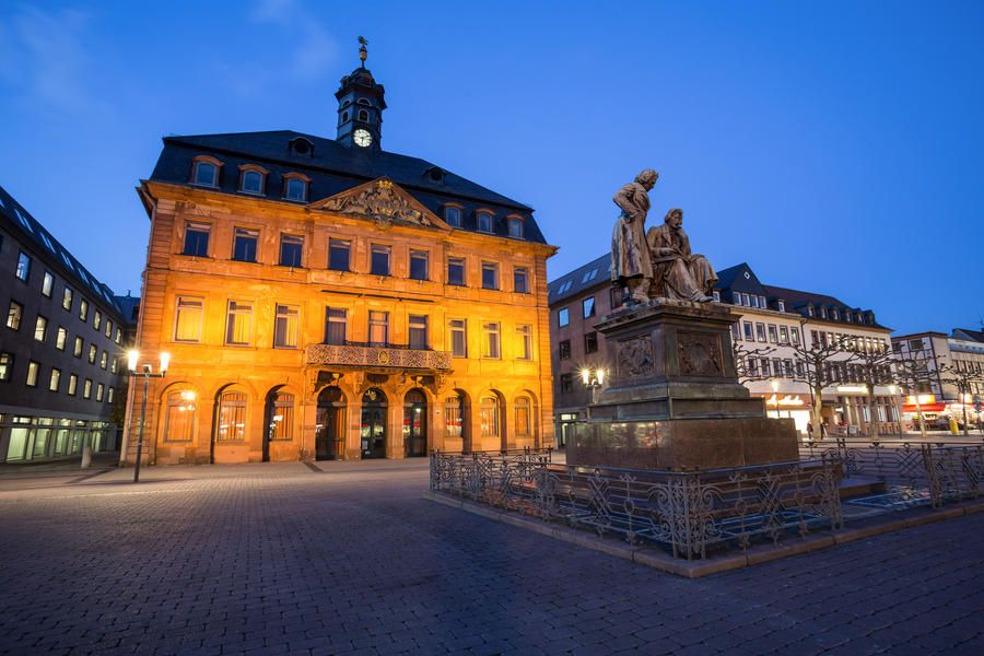
{"label": "triangular sculpted pediment on the orange-lit town hall", "polygon": [[388,227],[394,222],[449,227],[399,185],[385,177],[315,201],[309,207],[370,219],[379,227]]}

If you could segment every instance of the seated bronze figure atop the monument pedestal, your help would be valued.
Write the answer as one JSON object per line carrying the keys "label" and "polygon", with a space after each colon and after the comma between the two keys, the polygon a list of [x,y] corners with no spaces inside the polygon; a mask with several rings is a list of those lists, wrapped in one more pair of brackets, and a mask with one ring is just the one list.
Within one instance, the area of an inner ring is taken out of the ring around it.
{"label": "seated bronze figure atop the monument pedestal", "polygon": [[667,212],[663,225],[651,227],[646,235],[653,261],[654,296],[695,301],[712,301],[711,291],[717,274],[703,255],[691,254],[690,239],[683,232],[683,210]]}

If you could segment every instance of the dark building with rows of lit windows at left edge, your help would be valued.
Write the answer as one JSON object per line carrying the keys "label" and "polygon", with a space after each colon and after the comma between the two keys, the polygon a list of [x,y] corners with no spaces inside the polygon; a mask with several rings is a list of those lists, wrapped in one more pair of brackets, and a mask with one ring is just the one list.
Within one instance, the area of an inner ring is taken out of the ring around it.
{"label": "dark building with rows of lit windows at left edge", "polygon": [[0,188],[0,461],[118,447],[127,319],[113,296]]}

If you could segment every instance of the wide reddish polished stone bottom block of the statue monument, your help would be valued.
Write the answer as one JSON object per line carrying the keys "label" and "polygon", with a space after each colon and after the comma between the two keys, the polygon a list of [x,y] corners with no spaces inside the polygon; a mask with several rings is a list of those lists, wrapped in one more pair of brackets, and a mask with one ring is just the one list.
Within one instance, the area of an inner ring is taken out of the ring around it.
{"label": "wide reddish polished stone bottom block of the statue monument", "polygon": [[694,470],[799,459],[792,419],[591,421],[577,424],[567,465]]}

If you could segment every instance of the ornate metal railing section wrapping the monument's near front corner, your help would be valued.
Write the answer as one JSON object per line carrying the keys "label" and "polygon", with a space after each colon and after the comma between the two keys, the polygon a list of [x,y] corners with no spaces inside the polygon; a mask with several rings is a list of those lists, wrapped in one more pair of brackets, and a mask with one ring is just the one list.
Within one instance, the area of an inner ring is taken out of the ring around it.
{"label": "ornate metal railing section wrapping the monument's near front corner", "polygon": [[431,490],[563,522],[676,558],[841,527],[836,455],[694,472],[554,465],[530,456],[431,453]]}

